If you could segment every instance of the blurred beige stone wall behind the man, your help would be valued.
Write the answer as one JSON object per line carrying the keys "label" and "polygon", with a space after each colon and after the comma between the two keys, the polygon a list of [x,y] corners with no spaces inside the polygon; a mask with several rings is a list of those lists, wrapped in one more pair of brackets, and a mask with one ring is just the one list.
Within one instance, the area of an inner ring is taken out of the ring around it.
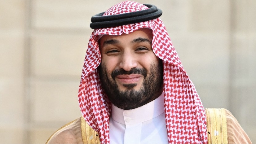
{"label": "blurred beige stone wall behind the man", "polygon": [[[91,16],[121,0],[0,0],[0,143],[45,143],[81,113]],[[206,108],[227,108],[256,143],[256,1],[156,5]]]}

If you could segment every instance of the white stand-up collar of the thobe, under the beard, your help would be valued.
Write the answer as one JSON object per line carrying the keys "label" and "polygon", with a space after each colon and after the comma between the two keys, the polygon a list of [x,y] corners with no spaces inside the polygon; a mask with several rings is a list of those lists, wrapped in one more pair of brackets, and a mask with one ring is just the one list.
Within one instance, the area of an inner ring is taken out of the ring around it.
{"label": "white stand-up collar of the thobe, under the beard", "polygon": [[164,112],[164,93],[141,107],[123,110],[112,104],[112,118],[121,124],[138,124],[151,120]]}

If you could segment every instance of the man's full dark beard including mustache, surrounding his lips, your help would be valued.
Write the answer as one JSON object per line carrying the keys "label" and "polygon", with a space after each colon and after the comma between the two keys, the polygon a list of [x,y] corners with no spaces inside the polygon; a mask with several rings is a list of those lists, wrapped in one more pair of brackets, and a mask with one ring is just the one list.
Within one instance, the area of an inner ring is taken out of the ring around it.
{"label": "man's full dark beard including mustache, surrounding his lips", "polygon": [[[109,101],[124,110],[141,107],[158,98],[163,92],[163,64],[161,59],[158,59],[158,63],[152,63],[149,71],[145,68],[133,68],[130,71],[118,69],[114,70],[110,76],[104,63],[99,65],[98,71],[101,86]],[[119,89],[115,77],[129,74],[144,76],[139,90],[134,89],[137,84],[123,84],[126,90],[121,91]]]}

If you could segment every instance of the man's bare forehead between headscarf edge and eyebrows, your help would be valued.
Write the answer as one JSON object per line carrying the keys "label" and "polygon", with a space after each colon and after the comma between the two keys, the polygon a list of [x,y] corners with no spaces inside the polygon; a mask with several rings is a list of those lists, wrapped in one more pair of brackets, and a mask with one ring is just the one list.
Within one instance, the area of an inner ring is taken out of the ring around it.
{"label": "man's bare forehead between headscarf edge and eyebrows", "polygon": [[124,40],[124,41],[132,41],[135,38],[147,38],[149,41],[152,41],[152,30],[149,28],[140,28],[132,33],[126,34],[123,33],[121,35],[103,35],[100,39],[99,39],[99,44],[101,45],[104,41],[106,40],[110,40],[110,39],[117,39],[117,40]]}

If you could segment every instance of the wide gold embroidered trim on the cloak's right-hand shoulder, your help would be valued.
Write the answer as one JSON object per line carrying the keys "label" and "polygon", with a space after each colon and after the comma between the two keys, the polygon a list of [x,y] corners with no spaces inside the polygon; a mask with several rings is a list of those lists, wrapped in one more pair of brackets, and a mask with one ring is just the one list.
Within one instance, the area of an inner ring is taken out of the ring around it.
{"label": "wide gold embroidered trim on the cloak's right-hand shoulder", "polygon": [[227,142],[227,118],[223,108],[206,108],[208,144]]}

